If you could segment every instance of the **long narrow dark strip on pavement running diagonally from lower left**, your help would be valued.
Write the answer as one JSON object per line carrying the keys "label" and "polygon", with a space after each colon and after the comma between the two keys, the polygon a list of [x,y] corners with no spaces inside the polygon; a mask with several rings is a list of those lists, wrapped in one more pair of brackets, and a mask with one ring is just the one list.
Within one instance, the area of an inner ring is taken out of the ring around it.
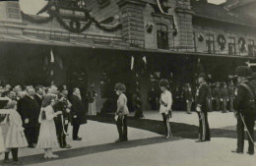
{"label": "long narrow dark strip on pavement running diagonally from lower left", "polygon": [[[165,139],[164,137],[155,137],[155,138],[134,139],[129,141],[97,144],[97,145],[90,145],[90,146],[80,147],[80,148],[72,148],[72,149],[63,150],[63,151],[56,151],[55,153],[60,156],[57,159],[48,160],[43,158],[43,154],[35,154],[35,155],[21,157],[20,160],[23,161],[23,165],[27,166],[27,165],[32,165],[36,163],[44,163],[48,161],[68,159],[68,158],[79,157],[79,156],[88,155],[88,154],[110,151],[114,149],[132,148],[132,147],[137,147],[142,145],[157,144],[157,143],[173,141],[177,139],[180,139],[180,138]],[[3,163],[0,163],[0,165],[1,164]]]}

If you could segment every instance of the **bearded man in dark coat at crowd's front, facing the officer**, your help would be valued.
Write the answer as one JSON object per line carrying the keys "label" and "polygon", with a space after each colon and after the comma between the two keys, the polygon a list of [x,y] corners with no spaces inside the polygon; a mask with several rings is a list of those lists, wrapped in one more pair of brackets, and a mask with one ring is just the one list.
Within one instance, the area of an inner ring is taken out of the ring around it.
{"label": "bearded man in dark coat at crowd's front, facing the officer", "polygon": [[86,108],[82,102],[80,89],[75,87],[73,89],[73,94],[70,97],[71,107],[71,116],[72,116],[72,126],[73,126],[73,139],[82,140],[78,137],[80,125],[87,123],[86,117]]}

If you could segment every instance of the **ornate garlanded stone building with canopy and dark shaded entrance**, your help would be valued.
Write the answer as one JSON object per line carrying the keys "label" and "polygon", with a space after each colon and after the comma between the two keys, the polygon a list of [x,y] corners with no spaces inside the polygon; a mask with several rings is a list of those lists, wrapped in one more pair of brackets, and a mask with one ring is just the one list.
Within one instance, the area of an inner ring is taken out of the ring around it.
{"label": "ornate garlanded stone building with canopy and dark shaded entrance", "polygon": [[148,109],[147,93],[160,78],[192,83],[203,70],[219,81],[253,61],[256,19],[241,12],[252,6],[233,3],[62,0],[38,11],[45,17],[26,14],[19,2],[0,2],[0,79],[66,83],[85,93],[94,83],[98,111],[114,83],[123,82]]}

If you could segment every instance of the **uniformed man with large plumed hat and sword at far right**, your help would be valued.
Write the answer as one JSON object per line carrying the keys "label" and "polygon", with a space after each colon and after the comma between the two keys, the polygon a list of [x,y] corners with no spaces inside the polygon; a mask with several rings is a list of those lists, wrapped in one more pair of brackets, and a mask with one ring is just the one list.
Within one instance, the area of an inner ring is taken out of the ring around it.
{"label": "uniformed man with large plumed hat and sword at far right", "polygon": [[236,131],[237,131],[237,148],[232,150],[235,153],[243,153],[244,146],[244,123],[247,128],[248,134],[248,154],[254,154],[254,109],[251,104],[254,87],[252,83],[248,81],[252,71],[246,66],[238,66],[235,70],[237,75],[237,96],[235,100],[235,116],[237,119]]}

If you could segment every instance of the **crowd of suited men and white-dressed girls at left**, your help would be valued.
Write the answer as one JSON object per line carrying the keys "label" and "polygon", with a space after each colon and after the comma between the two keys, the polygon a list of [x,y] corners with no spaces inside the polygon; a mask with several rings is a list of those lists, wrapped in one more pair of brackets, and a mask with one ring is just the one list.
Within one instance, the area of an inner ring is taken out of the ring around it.
{"label": "crowd of suited men and white-dressed girls at left", "polygon": [[[57,158],[52,148],[71,148],[66,141],[69,123],[73,126],[73,140],[82,139],[78,133],[80,125],[87,123],[87,109],[79,88],[68,97],[66,85],[58,90],[55,85],[23,89],[21,85],[12,88],[7,84],[1,95],[0,152],[5,152],[4,163],[10,162],[11,151],[13,164],[21,164],[18,150],[27,146],[44,149],[44,158]],[[89,90],[88,95],[95,97],[96,93]],[[94,100],[90,98],[90,104],[95,104]],[[95,112],[92,108],[96,106],[89,107],[89,114]]]}

